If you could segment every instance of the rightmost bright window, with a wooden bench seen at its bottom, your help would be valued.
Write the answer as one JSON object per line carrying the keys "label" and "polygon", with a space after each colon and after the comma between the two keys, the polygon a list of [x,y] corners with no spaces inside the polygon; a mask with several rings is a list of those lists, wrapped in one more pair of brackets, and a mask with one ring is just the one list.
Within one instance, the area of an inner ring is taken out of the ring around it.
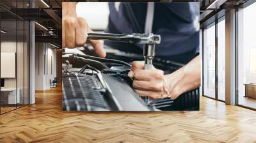
{"label": "rightmost bright window, with a wooden bench seen at its bottom", "polygon": [[256,109],[256,3],[237,12],[238,104]]}

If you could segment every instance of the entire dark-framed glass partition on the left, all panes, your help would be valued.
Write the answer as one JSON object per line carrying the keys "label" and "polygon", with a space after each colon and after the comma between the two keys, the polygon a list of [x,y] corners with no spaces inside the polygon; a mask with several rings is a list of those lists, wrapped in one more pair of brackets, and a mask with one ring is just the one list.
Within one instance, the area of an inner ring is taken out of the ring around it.
{"label": "entire dark-framed glass partition on the left, all panes", "polygon": [[[11,10],[27,8],[27,3],[0,1]],[[0,114],[3,114],[29,103],[29,22],[0,8],[0,30]]]}

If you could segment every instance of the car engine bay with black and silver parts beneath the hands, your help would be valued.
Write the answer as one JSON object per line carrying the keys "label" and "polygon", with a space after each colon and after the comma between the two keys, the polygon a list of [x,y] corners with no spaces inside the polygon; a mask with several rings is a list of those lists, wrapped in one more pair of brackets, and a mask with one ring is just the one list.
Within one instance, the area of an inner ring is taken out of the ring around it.
{"label": "car engine bay with black and silver parts beneath the hands", "polygon": [[[199,89],[184,93],[175,100],[163,98],[145,102],[145,98],[132,89],[132,79],[127,76],[131,62],[143,61],[142,55],[106,48],[107,57],[100,58],[90,49],[92,47],[63,52],[63,110],[199,110]],[[172,73],[184,64],[156,57],[154,66],[164,73]]]}

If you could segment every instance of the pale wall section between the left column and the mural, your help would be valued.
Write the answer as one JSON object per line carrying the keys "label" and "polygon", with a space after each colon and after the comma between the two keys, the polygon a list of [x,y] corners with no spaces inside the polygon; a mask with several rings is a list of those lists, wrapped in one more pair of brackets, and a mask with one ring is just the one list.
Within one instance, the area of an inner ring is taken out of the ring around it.
{"label": "pale wall section between the left column and the mural", "polygon": [[49,43],[36,43],[35,65],[35,89],[51,88],[50,80],[56,77],[56,49]]}

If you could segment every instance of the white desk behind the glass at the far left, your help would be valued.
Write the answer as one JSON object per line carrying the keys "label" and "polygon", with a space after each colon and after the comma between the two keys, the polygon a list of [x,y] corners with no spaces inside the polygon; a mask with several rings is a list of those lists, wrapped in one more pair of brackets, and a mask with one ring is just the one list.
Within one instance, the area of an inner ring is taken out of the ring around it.
{"label": "white desk behind the glass at the far left", "polygon": [[20,103],[20,89],[17,89],[18,94],[16,98],[16,88],[1,89],[1,102],[3,104],[16,104]]}

